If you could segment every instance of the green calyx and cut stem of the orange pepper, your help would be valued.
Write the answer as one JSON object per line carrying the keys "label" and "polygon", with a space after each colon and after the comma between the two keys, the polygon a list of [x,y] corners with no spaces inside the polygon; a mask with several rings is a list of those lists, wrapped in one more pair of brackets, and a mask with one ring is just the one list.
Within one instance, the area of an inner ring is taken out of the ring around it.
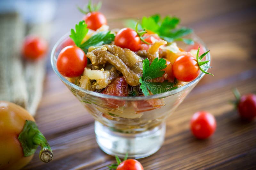
{"label": "green calyx and cut stem of the orange pepper", "polygon": [[26,120],[18,139],[23,148],[24,157],[33,155],[39,145],[41,146],[39,158],[43,162],[50,162],[52,160],[52,149],[44,135],[38,130],[38,127],[34,121]]}

